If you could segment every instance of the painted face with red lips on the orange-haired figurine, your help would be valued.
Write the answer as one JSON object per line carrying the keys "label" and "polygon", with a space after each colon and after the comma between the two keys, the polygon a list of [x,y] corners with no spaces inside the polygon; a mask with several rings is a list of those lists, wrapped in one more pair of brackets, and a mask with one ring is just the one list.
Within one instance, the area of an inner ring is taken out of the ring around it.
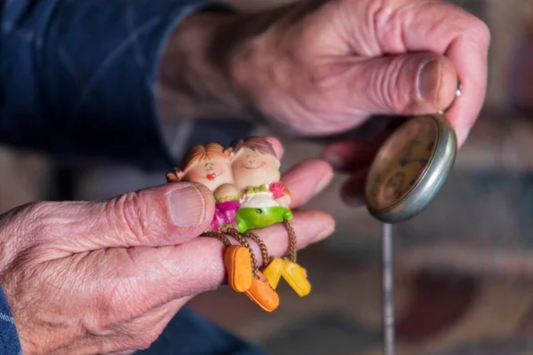
{"label": "painted face with red lips on the orange-haired figurine", "polygon": [[234,183],[230,160],[219,156],[196,162],[183,179],[206,185],[211,191],[219,185]]}

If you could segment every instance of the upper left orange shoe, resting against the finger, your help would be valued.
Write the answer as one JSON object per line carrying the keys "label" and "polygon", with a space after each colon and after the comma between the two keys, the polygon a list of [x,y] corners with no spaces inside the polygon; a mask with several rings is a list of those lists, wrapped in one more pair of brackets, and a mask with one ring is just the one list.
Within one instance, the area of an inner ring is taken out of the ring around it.
{"label": "upper left orange shoe, resting against the finger", "polygon": [[247,248],[232,245],[224,253],[227,282],[235,292],[246,292],[251,287],[251,255]]}

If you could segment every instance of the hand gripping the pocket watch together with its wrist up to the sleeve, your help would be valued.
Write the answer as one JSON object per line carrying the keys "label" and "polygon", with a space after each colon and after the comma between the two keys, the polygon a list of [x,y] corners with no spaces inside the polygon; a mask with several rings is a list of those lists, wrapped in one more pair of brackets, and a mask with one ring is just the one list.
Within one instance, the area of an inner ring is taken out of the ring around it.
{"label": "hand gripping the pocket watch together with its wrist up to the sleeve", "polygon": [[[459,78],[461,98],[447,116],[462,146],[485,98],[488,50],[487,26],[439,0],[303,0],[253,14],[200,12],[165,51],[158,106],[163,122],[260,117],[285,134],[319,137],[371,115],[439,112],[453,102]],[[347,201],[359,196],[382,141],[326,149],[329,162],[355,174]]]}

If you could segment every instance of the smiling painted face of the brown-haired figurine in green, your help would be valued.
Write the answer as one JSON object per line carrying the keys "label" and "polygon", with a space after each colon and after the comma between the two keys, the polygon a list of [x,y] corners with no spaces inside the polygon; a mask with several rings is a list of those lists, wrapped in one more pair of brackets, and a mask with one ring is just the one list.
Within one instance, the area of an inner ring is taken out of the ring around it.
{"label": "smiling painted face of the brown-haired figurine in green", "polygon": [[273,154],[262,154],[247,146],[235,153],[232,169],[235,185],[242,189],[280,180],[280,161]]}

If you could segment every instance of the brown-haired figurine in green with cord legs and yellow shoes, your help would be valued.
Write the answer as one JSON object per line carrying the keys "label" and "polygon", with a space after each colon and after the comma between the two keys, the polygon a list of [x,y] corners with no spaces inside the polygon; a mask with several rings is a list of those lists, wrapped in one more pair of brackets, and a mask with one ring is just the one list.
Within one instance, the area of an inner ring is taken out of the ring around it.
{"label": "brown-haired figurine in green with cord legs and yellow shoes", "polygon": [[[274,289],[283,278],[298,296],[308,295],[311,284],[306,270],[296,263],[297,237],[289,222],[290,192],[280,181],[281,162],[274,147],[265,138],[251,137],[236,140],[229,149],[235,185],[243,191],[235,216],[237,230],[246,233],[252,228],[283,223],[290,236],[290,258],[267,257],[263,274]],[[261,245],[257,236],[252,239]]]}

